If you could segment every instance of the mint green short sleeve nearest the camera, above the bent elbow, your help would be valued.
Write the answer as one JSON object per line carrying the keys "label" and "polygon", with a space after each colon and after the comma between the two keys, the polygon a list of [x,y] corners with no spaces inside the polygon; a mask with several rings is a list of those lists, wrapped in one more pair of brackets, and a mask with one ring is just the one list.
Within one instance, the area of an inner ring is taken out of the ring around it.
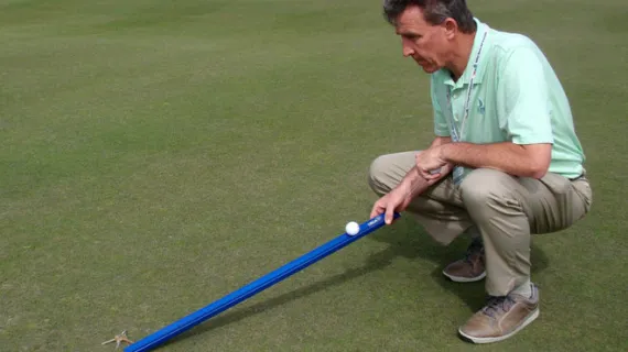
{"label": "mint green short sleeve nearest the camera, above the bent elbow", "polygon": [[543,63],[531,47],[506,58],[498,89],[508,140],[516,144],[553,143],[550,98]]}

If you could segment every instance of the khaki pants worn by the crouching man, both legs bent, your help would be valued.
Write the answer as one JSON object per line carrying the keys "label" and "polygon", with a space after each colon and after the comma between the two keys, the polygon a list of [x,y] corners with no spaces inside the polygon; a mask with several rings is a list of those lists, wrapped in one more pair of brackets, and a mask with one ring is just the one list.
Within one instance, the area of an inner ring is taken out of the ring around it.
{"label": "khaki pants worn by the crouching man, both legs bent", "polygon": [[[370,167],[369,184],[379,196],[393,189],[414,166],[418,152],[382,155]],[[438,242],[451,243],[469,228],[481,234],[486,290],[508,295],[530,278],[530,234],[569,228],[591,209],[588,180],[548,173],[515,177],[479,168],[456,187],[448,176],[412,200],[408,211]]]}

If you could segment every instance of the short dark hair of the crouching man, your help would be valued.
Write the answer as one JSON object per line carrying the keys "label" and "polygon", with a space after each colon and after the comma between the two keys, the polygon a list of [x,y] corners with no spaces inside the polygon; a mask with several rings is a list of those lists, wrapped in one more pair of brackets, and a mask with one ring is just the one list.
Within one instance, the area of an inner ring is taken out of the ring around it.
{"label": "short dark hair of the crouching man", "polygon": [[477,29],[465,0],[383,0],[383,16],[390,24],[396,24],[408,7],[421,8],[425,21],[433,25],[452,18],[463,33],[474,33]]}

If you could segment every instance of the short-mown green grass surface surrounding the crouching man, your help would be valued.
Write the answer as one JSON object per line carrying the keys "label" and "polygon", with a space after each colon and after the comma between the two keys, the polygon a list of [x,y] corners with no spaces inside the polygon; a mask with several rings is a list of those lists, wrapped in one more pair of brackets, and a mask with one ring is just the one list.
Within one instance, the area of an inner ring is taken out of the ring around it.
{"label": "short-mown green grass surface surrounding the crouching man", "polygon": [[[628,351],[626,0],[468,2],[543,50],[587,157],[540,318],[463,342],[467,240],[408,215],[159,351]],[[139,340],[366,221],[370,162],[432,139],[380,0],[0,0],[0,351]]]}

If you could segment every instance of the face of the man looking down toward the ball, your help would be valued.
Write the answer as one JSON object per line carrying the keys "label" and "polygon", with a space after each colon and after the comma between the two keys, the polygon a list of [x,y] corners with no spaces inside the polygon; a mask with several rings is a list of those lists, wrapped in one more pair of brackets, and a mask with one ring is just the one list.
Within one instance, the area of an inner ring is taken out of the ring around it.
{"label": "face of the man looking down toward the ball", "polygon": [[451,46],[445,25],[425,22],[421,8],[407,8],[397,19],[396,31],[401,36],[403,56],[412,56],[425,73],[445,66]]}

